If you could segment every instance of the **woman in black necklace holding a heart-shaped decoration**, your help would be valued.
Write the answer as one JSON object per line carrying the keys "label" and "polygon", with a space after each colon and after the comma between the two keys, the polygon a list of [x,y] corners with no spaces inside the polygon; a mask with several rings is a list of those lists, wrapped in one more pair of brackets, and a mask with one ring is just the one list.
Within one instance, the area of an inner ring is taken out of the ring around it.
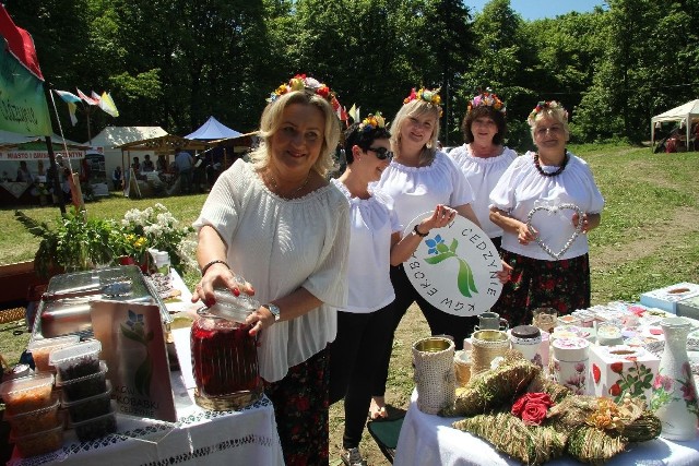
{"label": "woman in black necklace holding a heart-shaped decoration", "polygon": [[490,193],[490,220],[503,229],[502,259],[512,266],[493,311],[511,326],[531,323],[540,307],[590,307],[587,234],[604,207],[590,167],[566,150],[566,109],[540,101],[528,121],[537,151],[516,159]]}

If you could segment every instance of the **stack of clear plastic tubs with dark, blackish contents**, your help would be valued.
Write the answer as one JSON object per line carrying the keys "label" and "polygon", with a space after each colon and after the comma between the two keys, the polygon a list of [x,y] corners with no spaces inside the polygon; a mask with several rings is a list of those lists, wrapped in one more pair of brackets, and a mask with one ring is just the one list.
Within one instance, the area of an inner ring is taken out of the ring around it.
{"label": "stack of clear plastic tubs with dark, blackish contents", "polygon": [[99,360],[98,340],[79,343],[51,351],[49,363],[56,368],[56,386],[67,409],[69,427],[78,439],[87,441],[116,432],[117,420],[111,402],[107,366]]}

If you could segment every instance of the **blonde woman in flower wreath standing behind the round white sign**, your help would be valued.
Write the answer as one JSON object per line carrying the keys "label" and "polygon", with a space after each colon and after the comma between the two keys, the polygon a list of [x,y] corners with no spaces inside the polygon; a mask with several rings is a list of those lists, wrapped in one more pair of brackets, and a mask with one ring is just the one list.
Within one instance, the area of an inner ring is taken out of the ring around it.
{"label": "blonde woman in flower wreath standing behind the round white sign", "polygon": [[[439,138],[439,117],[441,116],[439,89],[412,89],[403,100],[403,106],[391,123],[391,147],[395,157],[383,170],[379,188],[394,202],[399,223],[411,236],[423,239],[429,229],[411,223],[420,214],[433,211],[447,224],[455,215],[461,215],[474,224],[478,220],[471,207],[473,192],[469,181],[453,160],[437,150]],[[499,273],[507,280],[507,272]],[[417,302],[433,335],[450,335],[457,349],[463,347],[463,340],[473,332],[477,323],[475,316],[452,315],[430,304],[412,285],[402,263],[391,267],[391,283],[395,291],[391,340],[380,357],[380,373],[375,379],[374,397],[369,416],[372,419],[386,418],[386,382],[393,334],[407,308]]]}

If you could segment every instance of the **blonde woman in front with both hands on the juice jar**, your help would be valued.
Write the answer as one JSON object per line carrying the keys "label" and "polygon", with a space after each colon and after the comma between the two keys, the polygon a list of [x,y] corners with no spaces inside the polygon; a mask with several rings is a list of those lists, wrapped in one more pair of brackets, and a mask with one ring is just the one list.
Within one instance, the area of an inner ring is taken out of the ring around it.
{"label": "blonde woman in front with both hands on the juice jar", "polygon": [[328,345],[347,299],[350,206],[325,180],[340,136],[328,97],[328,86],[306,76],[280,86],[252,163],[237,160],[218,177],[194,223],[202,278],[192,300],[211,306],[214,287],[225,286],[264,302],[246,322],[259,335],[260,375],[288,465],[328,464]]}

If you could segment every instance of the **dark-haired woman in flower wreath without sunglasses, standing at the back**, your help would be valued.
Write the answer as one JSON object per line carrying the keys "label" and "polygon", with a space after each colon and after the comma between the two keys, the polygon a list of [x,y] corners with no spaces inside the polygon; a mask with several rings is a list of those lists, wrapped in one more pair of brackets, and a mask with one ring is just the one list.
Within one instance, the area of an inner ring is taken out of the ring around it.
{"label": "dark-haired woman in flower wreath without sunglasses, standing at the back", "polygon": [[472,206],[481,228],[498,250],[502,228],[490,222],[490,191],[517,158],[514,151],[502,145],[505,117],[506,106],[496,94],[486,91],[476,95],[461,123],[465,143],[449,153],[473,189]]}

